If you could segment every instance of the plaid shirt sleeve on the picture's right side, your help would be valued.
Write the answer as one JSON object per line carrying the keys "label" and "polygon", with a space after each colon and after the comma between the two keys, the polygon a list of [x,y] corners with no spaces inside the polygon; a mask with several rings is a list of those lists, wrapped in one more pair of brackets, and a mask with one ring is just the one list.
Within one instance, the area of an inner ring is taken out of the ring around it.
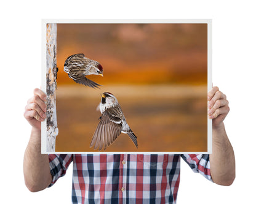
{"label": "plaid shirt sleeve on the picture's right side", "polygon": [[181,156],[193,172],[200,173],[205,178],[212,181],[209,154],[182,154]]}

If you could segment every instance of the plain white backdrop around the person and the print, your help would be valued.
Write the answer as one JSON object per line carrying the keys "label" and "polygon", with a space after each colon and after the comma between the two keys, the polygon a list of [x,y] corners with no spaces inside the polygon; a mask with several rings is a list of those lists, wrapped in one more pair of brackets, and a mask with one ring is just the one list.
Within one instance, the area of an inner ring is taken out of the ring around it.
{"label": "plain white backdrop around the person and the print", "polygon": [[[134,2],[134,4],[133,4]],[[112,5],[111,5],[112,4]],[[41,85],[41,19],[188,19],[213,23],[213,83],[230,101],[225,119],[236,155],[232,186],[210,183],[182,162],[178,204],[255,203],[255,58],[253,1],[5,1],[1,3],[1,197],[0,203],[70,203],[72,166],[42,192],[23,180],[30,126],[26,101]]]}

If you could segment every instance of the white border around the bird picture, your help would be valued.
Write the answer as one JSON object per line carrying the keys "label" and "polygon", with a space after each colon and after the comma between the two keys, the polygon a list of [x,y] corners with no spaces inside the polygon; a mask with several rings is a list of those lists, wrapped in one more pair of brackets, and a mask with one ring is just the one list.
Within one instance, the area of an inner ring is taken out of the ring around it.
{"label": "white border around the bird picture", "polygon": [[[207,23],[207,91],[212,89],[212,20],[211,19],[43,19],[42,20],[42,91],[46,93],[46,25],[47,23]],[[58,32],[58,28],[57,28]],[[58,45],[57,45],[58,46]],[[207,94],[207,93],[206,93]],[[206,111],[207,113],[207,111]],[[206,115],[207,117],[207,115]],[[58,137],[58,136],[57,136]],[[41,123],[42,154],[151,154],[152,152],[47,152],[46,119]],[[153,152],[153,154],[211,154],[212,119],[207,118],[207,152]]]}

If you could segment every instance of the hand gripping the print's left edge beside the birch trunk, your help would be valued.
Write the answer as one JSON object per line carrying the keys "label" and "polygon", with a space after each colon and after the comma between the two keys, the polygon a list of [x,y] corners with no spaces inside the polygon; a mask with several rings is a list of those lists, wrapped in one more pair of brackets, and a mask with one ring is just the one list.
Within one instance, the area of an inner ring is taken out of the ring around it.
{"label": "hand gripping the print's left edge beside the birch trunk", "polygon": [[46,94],[41,89],[34,89],[34,96],[28,99],[24,117],[31,126],[41,131],[41,122],[46,119]]}

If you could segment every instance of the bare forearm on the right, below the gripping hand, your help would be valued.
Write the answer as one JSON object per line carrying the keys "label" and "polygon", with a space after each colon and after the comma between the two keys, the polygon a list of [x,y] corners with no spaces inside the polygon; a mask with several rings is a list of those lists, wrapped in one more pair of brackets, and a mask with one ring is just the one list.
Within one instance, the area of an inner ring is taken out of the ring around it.
{"label": "bare forearm on the right, below the gripping hand", "polygon": [[210,173],[214,183],[224,186],[230,186],[235,178],[234,151],[223,123],[212,131]]}

